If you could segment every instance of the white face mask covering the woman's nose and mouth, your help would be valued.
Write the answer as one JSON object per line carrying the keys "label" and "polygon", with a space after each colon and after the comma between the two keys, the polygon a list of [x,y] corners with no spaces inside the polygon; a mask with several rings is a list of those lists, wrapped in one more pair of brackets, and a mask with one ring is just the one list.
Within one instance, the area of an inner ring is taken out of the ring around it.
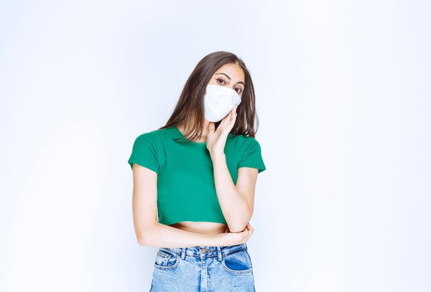
{"label": "white face mask covering the woman's nose and mouth", "polygon": [[210,122],[222,121],[229,112],[241,103],[235,90],[221,85],[207,85],[204,95],[204,116]]}

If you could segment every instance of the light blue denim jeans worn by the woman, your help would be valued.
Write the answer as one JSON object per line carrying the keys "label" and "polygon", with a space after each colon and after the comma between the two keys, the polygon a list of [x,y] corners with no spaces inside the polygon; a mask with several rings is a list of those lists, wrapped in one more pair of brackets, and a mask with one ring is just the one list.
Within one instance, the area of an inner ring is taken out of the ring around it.
{"label": "light blue denim jeans worn by the woman", "polygon": [[254,292],[245,243],[229,247],[160,247],[150,292]]}

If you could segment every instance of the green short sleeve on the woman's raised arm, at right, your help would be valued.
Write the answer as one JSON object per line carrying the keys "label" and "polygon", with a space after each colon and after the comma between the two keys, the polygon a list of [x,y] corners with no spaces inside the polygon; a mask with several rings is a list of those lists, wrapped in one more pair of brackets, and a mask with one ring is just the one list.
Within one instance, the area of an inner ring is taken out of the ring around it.
{"label": "green short sleeve on the woman's raised arm, at right", "polygon": [[240,157],[238,158],[238,168],[240,167],[253,167],[259,169],[260,173],[266,169],[264,160],[262,158],[262,150],[260,144],[253,137],[246,137],[241,139],[240,142]]}

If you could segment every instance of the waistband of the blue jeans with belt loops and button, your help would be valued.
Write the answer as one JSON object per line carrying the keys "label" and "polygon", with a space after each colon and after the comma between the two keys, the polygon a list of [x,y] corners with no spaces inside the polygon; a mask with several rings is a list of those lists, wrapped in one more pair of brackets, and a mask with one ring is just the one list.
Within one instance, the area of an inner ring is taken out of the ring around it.
{"label": "waistband of the blue jeans with belt loops and button", "polygon": [[240,251],[241,249],[247,250],[247,244],[235,244],[227,247],[207,247],[204,245],[197,245],[196,247],[160,247],[160,250],[167,250],[174,252],[181,256],[184,260],[186,255],[194,257],[218,257],[222,259],[222,255],[233,253],[234,251]]}

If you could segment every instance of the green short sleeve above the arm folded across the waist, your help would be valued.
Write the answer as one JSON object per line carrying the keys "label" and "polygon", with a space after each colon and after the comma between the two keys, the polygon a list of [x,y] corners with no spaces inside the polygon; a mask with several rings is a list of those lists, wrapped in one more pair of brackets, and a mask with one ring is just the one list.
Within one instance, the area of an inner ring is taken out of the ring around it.
{"label": "green short sleeve above the arm folded across the waist", "polygon": [[132,154],[127,161],[133,169],[133,163],[147,167],[158,174],[160,171],[160,160],[158,158],[158,136],[156,132],[141,134],[135,139]]}

